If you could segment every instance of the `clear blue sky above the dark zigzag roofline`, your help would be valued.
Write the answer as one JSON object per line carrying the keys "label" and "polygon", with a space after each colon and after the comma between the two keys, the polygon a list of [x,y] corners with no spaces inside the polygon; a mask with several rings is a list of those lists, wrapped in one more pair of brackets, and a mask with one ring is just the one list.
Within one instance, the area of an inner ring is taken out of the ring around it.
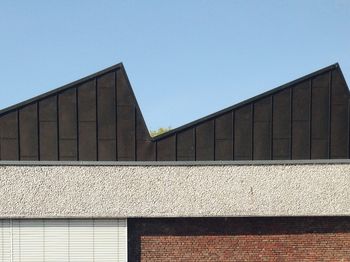
{"label": "clear blue sky above the dark zigzag roofline", "polygon": [[123,62],[150,129],[339,62],[350,1],[0,1],[0,108]]}

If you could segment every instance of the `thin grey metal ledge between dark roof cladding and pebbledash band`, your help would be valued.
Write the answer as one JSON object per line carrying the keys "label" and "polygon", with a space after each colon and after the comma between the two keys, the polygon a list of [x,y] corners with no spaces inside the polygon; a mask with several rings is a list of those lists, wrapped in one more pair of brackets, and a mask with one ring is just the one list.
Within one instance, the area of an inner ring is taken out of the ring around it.
{"label": "thin grey metal ledge between dark roof cladding and pebbledash band", "polygon": [[350,164],[350,159],[230,161],[0,161],[0,166],[264,166]]}

